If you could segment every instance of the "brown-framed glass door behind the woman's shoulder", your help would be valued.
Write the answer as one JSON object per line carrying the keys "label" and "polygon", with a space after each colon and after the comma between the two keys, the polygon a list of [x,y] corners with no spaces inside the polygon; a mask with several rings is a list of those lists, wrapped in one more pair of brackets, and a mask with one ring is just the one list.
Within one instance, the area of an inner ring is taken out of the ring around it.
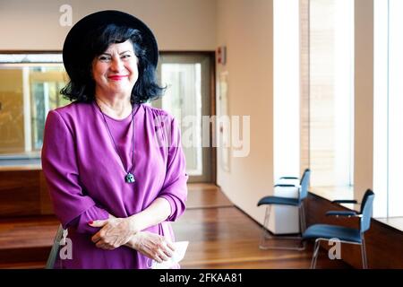
{"label": "brown-framed glass door behind the woman's shoulder", "polygon": [[214,57],[209,53],[166,53],[159,58],[159,79],[165,95],[152,105],[178,120],[189,182],[213,182],[215,152],[211,144],[211,79]]}

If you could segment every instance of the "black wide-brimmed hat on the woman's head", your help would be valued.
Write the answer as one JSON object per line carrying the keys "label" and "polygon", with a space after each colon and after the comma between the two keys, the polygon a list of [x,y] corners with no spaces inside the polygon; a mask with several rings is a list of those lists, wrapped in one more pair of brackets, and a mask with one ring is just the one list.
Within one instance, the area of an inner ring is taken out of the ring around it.
{"label": "black wide-brimmed hat on the woman's head", "polygon": [[79,22],[75,23],[73,28],[67,34],[63,46],[63,62],[65,70],[69,76],[72,76],[75,67],[82,63],[80,54],[85,47],[82,47],[83,39],[99,27],[107,24],[116,24],[117,26],[127,26],[141,33],[142,46],[146,49],[146,57],[150,63],[157,67],[159,61],[159,48],[157,40],[150,28],[140,19],[137,19],[129,13],[116,10],[106,10],[91,13],[85,16]]}

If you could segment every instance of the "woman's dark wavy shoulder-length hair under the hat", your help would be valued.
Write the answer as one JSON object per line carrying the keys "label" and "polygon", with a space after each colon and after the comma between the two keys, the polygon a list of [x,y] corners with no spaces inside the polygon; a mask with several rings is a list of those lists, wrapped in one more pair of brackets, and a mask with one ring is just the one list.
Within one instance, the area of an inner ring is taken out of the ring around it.
{"label": "woman's dark wavy shoulder-length hair under the hat", "polygon": [[74,66],[74,69],[69,74],[69,83],[60,91],[64,98],[79,102],[95,100],[92,61],[95,57],[104,53],[109,45],[123,43],[128,39],[133,43],[134,53],[139,59],[139,77],[132,90],[132,104],[149,102],[162,96],[166,87],[160,87],[157,83],[156,68],[146,56],[147,50],[142,45],[140,31],[124,26],[116,26],[116,24],[108,24],[91,32],[86,39],[82,39],[82,50],[77,53],[81,65]]}

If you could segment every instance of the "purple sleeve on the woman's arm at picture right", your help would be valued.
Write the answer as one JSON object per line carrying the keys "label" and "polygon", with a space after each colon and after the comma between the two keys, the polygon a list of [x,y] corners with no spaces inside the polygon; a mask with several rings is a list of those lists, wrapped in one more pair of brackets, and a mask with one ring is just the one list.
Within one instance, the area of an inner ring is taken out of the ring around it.
{"label": "purple sleeve on the woman's arm at picture right", "polygon": [[159,197],[164,197],[171,205],[171,213],[167,221],[174,222],[177,217],[184,213],[186,208],[186,182],[188,179],[181,134],[175,118],[171,121],[167,136],[170,136],[167,141],[167,174]]}

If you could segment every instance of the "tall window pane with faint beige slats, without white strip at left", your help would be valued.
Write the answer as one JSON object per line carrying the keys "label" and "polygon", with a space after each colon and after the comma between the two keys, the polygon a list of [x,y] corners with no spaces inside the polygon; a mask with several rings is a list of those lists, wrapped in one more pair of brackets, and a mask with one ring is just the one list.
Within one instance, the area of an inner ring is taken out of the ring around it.
{"label": "tall window pane with faint beige slats, without white strip at left", "polygon": [[312,187],[353,185],[354,1],[309,2]]}

